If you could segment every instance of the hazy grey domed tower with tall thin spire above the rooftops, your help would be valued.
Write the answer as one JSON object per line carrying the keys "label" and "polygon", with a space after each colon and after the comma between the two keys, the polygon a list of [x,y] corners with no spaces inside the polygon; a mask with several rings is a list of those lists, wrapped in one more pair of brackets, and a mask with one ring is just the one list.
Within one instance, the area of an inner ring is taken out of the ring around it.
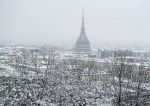
{"label": "hazy grey domed tower with tall thin spire above the rooftops", "polygon": [[85,34],[85,27],[84,27],[84,11],[82,13],[82,27],[81,27],[81,32],[80,36],[78,37],[75,47],[74,47],[75,52],[83,52],[83,53],[88,53],[91,51],[90,49],[90,42]]}

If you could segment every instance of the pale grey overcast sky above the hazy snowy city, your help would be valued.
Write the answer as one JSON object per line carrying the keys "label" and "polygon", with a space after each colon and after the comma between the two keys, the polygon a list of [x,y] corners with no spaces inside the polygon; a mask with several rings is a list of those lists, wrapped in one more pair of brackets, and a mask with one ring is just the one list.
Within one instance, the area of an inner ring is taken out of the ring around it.
{"label": "pale grey overcast sky above the hazy snowy city", "polygon": [[82,8],[94,45],[150,45],[150,0],[0,0],[0,41],[71,44]]}

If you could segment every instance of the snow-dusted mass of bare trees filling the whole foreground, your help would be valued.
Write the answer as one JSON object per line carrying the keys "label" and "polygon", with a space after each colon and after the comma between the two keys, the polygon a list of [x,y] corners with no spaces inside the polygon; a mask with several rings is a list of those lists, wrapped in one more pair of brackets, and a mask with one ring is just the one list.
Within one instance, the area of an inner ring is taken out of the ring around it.
{"label": "snow-dusted mass of bare trees filling the whole foreground", "polygon": [[[116,106],[149,105],[149,91],[144,87],[149,82],[142,80],[148,68],[141,61],[133,81],[134,65],[121,51],[103,63],[63,59],[54,48],[15,49],[9,58],[6,64],[18,74],[0,78],[0,103],[4,106],[94,106],[108,99]],[[83,80],[85,74],[104,70],[110,76],[107,81]]]}

